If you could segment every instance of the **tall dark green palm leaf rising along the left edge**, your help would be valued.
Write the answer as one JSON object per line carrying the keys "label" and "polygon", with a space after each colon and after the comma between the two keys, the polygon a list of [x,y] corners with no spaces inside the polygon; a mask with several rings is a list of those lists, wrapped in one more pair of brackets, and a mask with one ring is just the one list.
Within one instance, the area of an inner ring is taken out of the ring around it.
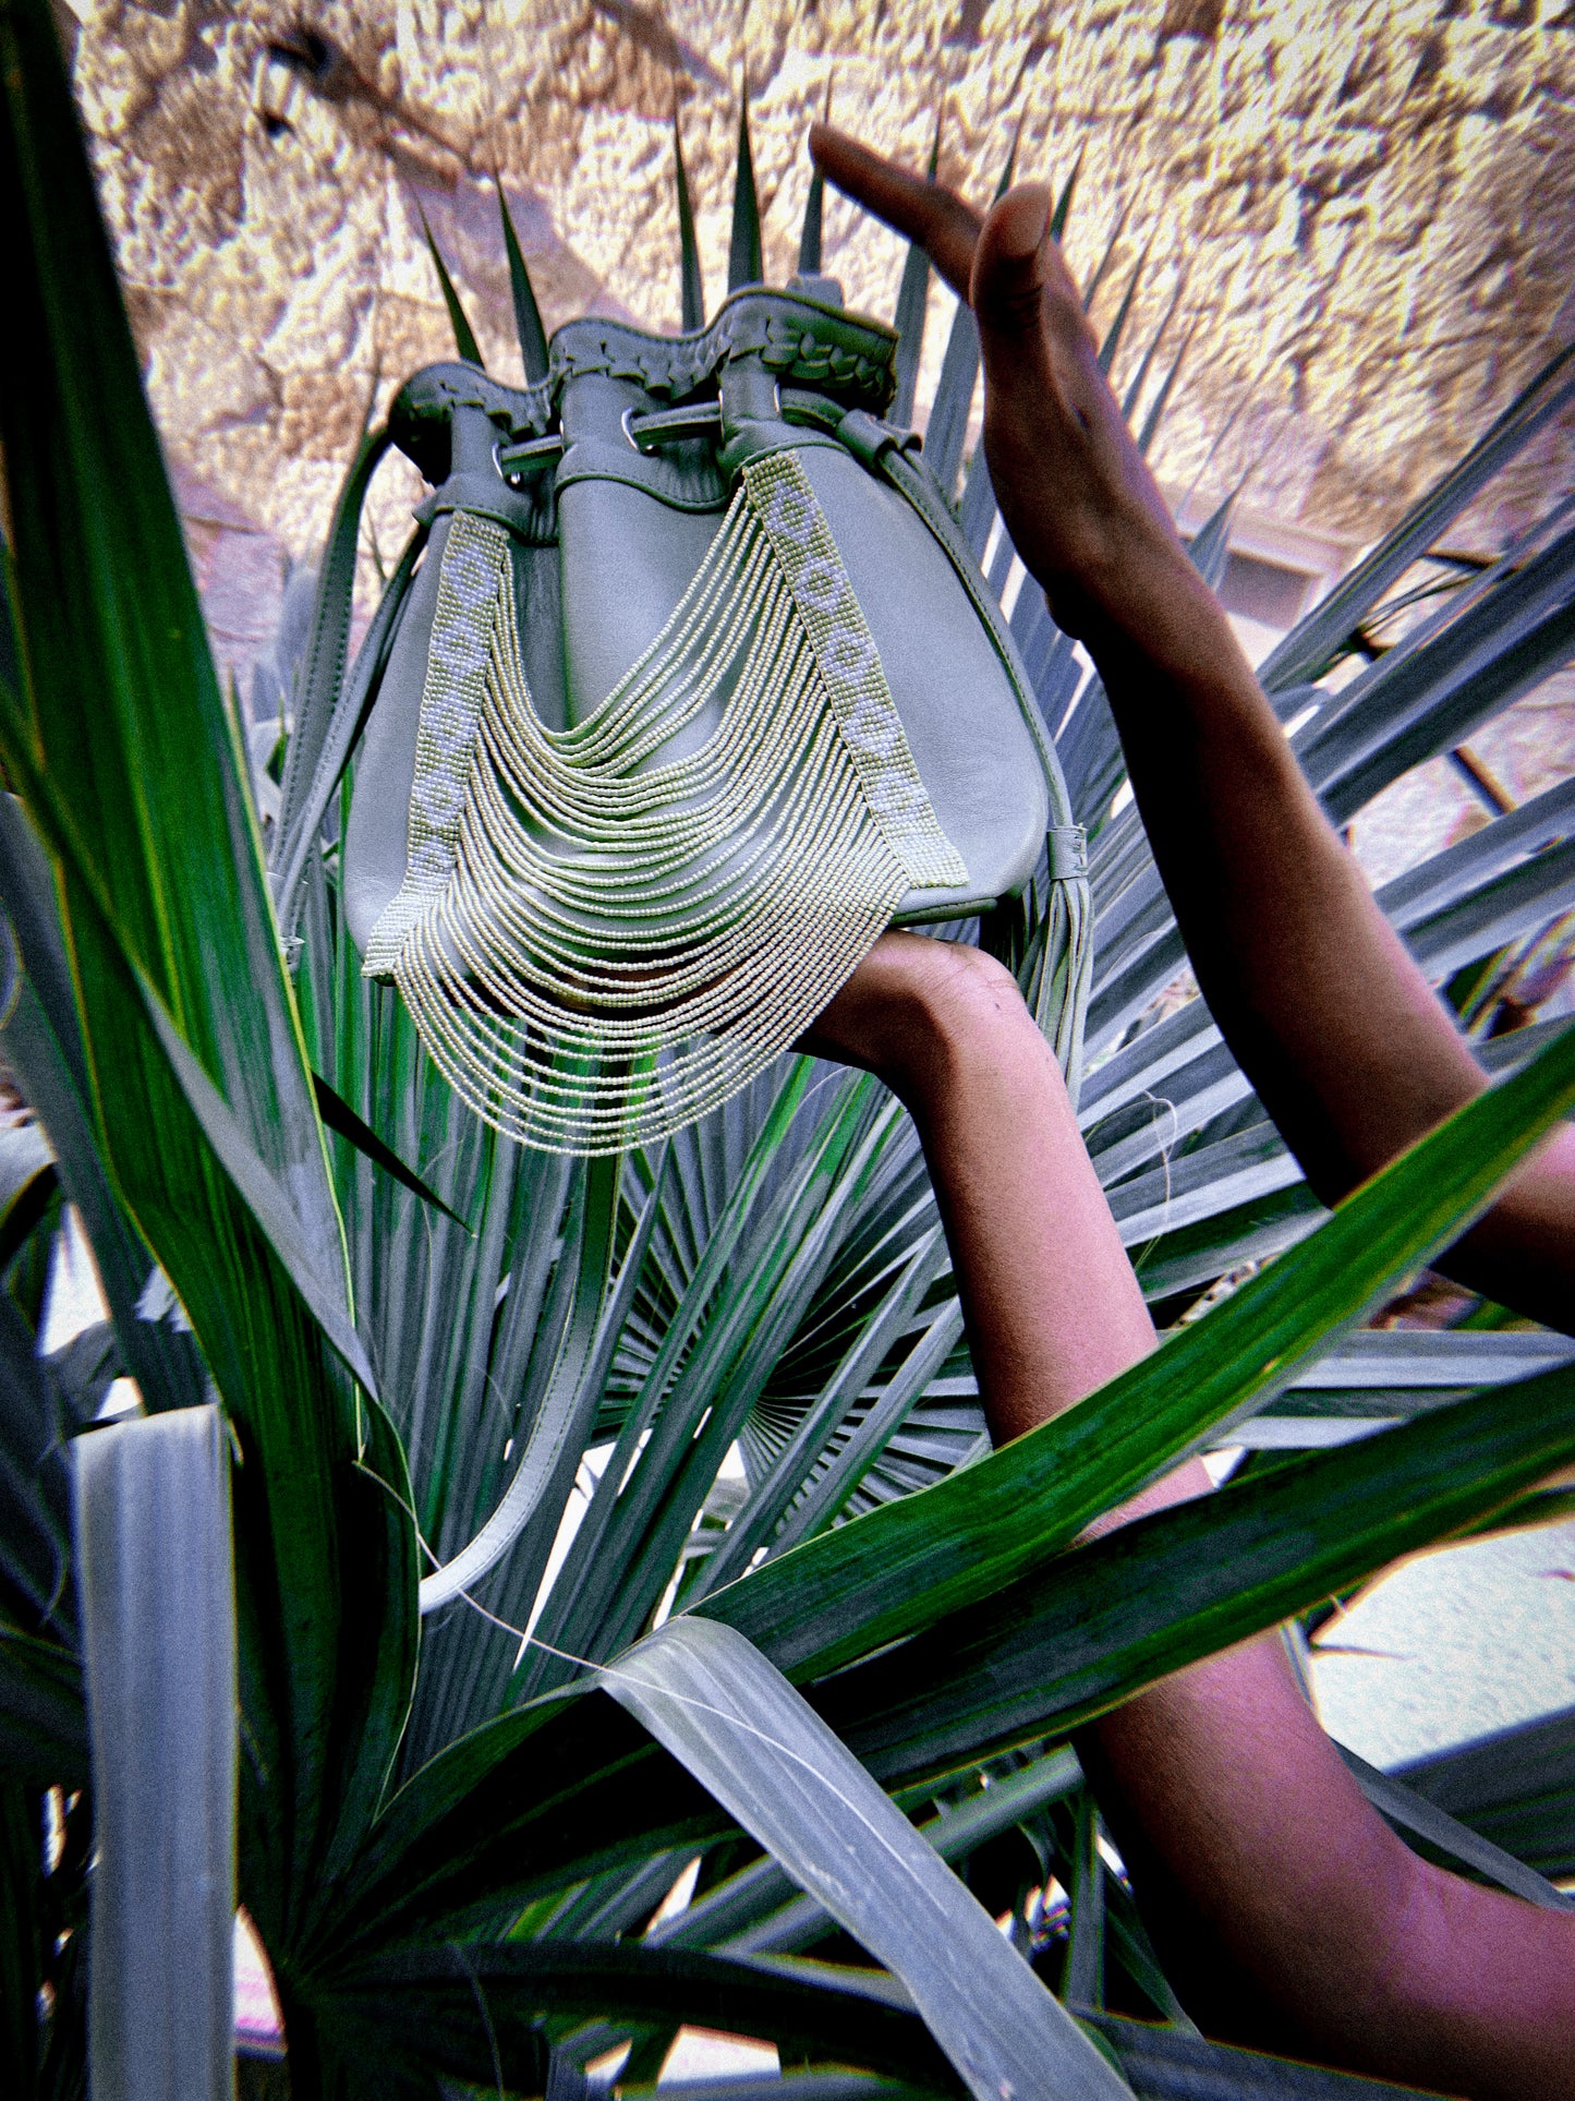
{"label": "tall dark green palm leaf rising along the left edge", "polygon": [[317,1286],[349,1317],[344,1244],[235,727],[48,11],[10,8],[0,40],[0,240],[15,292],[0,424],[25,677],[0,708],[0,742],[61,870],[116,1185],[191,1315],[246,1454],[244,1887],[271,1941],[288,1946],[336,1828],[363,1815],[355,1805],[368,1786],[376,1798],[403,1721],[412,1620],[401,1632],[391,1611],[401,1593],[407,1611],[414,1603],[403,1466],[370,1403],[357,1420],[288,1265],[170,1065],[178,1042],[288,1191]]}

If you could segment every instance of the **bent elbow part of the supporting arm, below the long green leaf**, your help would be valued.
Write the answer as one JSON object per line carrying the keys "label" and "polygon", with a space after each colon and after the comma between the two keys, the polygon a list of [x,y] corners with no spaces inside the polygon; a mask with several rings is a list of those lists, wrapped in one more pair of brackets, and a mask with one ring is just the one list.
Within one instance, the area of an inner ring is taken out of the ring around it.
{"label": "bent elbow part of the supporting arm, below the long green leaf", "polygon": [[[1193,1464],[1096,1530],[1199,1492]],[[1575,2097],[1575,1918],[1411,1853],[1277,1635],[1163,1679],[1077,1750],[1208,2034],[1472,2101]]]}

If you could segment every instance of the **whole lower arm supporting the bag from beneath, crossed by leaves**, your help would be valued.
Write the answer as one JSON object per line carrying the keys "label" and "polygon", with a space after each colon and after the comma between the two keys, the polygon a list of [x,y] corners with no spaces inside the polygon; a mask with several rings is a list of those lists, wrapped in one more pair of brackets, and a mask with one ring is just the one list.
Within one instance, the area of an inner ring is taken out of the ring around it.
{"label": "whole lower arm supporting the bag from beneath, crossed by leaves", "polygon": [[[808,1046],[880,1074],[914,1116],[998,1443],[1155,1347],[1056,1061],[1000,964],[888,933]],[[1193,1460],[1113,1521],[1205,1490]],[[1411,1853],[1277,1637],[1166,1679],[1079,1752],[1210,2034],[1470,2101],[1575,2101],[1575,1918]]]}

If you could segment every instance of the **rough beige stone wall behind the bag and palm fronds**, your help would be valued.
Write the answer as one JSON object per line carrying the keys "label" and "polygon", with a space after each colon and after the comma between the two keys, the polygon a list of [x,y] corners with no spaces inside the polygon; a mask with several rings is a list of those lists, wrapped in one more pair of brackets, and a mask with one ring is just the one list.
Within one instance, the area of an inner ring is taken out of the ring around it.
{"label": "rough beige stone wall behind the bag and palm fronds", "polygon": [[[1575,334],[1575,0],[57,0],[153,403],[220,651],[250,664],[311,559],[363,416],[452,355],[422,214],[489,366],[519,374],[504,189],[548,328],[678,321],[672,109],[712,305],[737,88],[769,275],[794,265],[804,130],[985,200],[1079,166],[1069,252],[1109,319],[1144,258],[1126,370],[1189,342],[1159,466],[1283,523],[1369,540]],[[827,204],[827,267],[888,315],[903,252]],[[1174,313],[1172,313],[1174,307]],[[932,376],[951,298],[934,288]],[[920,401],[924,387],[920,389]],[[1550,433],[1457,529],[1495,544],[1556,479]],[[386,561],[416,494],[384,471]],[[365,584],[376,565],[368,557]]]}

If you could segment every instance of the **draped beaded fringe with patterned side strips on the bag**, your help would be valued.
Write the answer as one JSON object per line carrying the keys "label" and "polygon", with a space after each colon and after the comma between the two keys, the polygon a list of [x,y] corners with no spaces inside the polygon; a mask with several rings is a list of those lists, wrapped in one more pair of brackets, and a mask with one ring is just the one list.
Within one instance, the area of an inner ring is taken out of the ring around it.
{"label": "draped beaded fringe with patterned side strips on the bag", "polygon": [[363,969],[485,1122],[582,1156],[666,1137],[808,1027],[909,889],[966,880],[790,452],[743,469],[662,635],[565,731],[525,683],[508,534],[454,515]]}

